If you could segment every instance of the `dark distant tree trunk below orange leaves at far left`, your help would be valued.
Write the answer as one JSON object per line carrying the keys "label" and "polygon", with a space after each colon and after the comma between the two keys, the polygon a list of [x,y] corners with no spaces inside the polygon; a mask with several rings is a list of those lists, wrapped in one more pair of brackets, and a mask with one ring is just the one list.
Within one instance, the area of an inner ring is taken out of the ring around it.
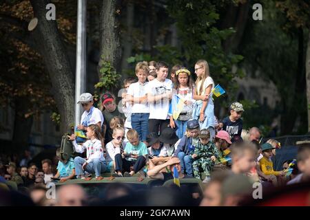
{"label": "dark distant tree trunk below orange leaves at far left", "polygon": [[30,104],[27,98],[15,98],[14,101],[14,130],[12,137],[12,152],[21,153],[23,150],[28,148],[29,136],[31,133],[31,127],[33,122],[33,116],[25,117],[27,109],[30,109],[28,105]]}

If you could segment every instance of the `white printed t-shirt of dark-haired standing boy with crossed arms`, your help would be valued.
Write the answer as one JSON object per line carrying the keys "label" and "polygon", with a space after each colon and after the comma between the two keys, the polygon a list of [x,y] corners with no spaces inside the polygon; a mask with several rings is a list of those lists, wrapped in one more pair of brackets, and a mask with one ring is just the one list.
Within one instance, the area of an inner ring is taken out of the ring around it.
{"label": "white printed t-shirt of dark-haired standing boy with crossed arms", "polygon": [[[164,82],[159,82],[156,79],[152,80],[147,85],[147,94],[158,96],[166,92],[172,92],[172,80],[165,79]],[[169,119],[169,99],[165,98],[156,102],[149,102],[149,118],[150,119]]]}

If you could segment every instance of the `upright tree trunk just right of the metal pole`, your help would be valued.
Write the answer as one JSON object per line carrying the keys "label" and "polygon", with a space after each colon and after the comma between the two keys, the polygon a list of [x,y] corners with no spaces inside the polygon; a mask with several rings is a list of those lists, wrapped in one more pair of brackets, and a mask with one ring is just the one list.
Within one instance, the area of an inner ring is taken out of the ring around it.
{"label": "upright tree trunk just right of the metal pole", "polygon": [[100,23],[100,54],[99,69],[103,61],[108,61],[116,69],[121,71],[121,43],[119,36],[118,14],[121,8],[118,0],[104,0],[101,8]]}

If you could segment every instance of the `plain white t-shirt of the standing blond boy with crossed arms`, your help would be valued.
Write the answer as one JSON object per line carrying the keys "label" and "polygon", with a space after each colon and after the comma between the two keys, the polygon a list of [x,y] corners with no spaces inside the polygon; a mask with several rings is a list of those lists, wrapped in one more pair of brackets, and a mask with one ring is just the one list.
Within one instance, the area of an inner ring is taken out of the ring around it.
{"label": "plain white t-shirt of the standing blond boy with crossed arms", "polygon": [[[147,82],[143,85],[141,83],[132,83],[128,88],[127,94],[133,96],[134,98],[141,98],[147,94]],[[132,113],[149,113],[149,104],[146,103],[134,103],[132,106]]]}

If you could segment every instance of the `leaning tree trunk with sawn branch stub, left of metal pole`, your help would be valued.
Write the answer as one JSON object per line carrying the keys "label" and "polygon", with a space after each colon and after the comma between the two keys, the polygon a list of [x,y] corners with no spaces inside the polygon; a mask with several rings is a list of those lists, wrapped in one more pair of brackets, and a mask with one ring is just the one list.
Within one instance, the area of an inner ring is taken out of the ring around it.
{"label": "leaning tree trunk with sawn branch stub, left of metal pole", "polygon": [[45,10],[45,6],[51,1],[30,0],[30,2],[34,10],[34,17],[39,20],[32,34],[39,45],[38,50],[52,81],[52,94],[61,114],[61,133],[64,133],[69,131],[71,124],[74,124],[72,68],[56,21],[48,21],[45,18],[45,13],[48,12]]}

